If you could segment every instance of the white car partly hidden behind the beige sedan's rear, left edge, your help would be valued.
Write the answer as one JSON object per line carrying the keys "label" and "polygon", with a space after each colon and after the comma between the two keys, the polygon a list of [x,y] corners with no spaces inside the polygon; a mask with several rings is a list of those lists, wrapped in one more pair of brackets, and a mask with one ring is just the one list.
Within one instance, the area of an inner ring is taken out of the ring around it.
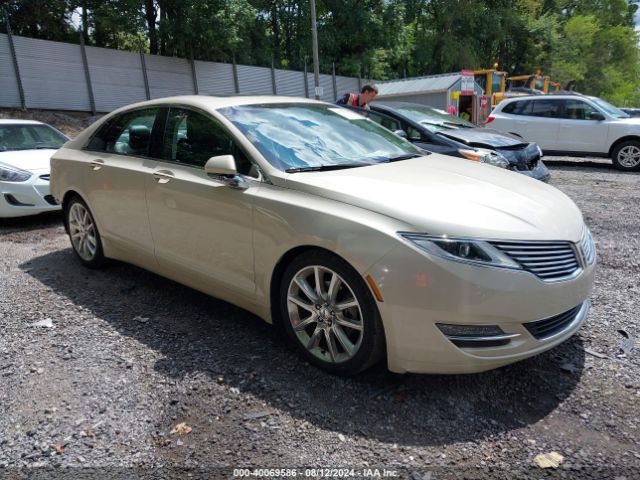
{"label": "white car partly hidden behind the beige sedan's rear, left edge", "polygon": [[45,123],[0,119],[0,218],[60,210],[49,192],[49,160],[67,140]]}

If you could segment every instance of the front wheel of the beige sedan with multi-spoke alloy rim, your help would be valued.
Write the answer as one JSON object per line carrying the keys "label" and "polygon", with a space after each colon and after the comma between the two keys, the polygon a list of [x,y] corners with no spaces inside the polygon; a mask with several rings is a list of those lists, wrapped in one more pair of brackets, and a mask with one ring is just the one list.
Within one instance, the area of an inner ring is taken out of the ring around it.
{"label": "front wheel of the beige sedan with multi-spoke alloy rim", "polygon": [[296,257],[280,285],[282,324],[294,347],[312,364],[354,375],[380,360],[384,332],[362,277],[322,250]]}

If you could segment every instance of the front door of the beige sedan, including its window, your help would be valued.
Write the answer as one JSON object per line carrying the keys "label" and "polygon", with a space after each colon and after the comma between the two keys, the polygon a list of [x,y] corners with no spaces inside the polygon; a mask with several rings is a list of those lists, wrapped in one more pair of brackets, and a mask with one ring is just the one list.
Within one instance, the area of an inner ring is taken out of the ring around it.
{"label": "front door of the beige sedan, including its window", "polygon": [[234,155],[240,172],[251,172],[251,164],[216,120],[171,108],[163,160],[146,178],[155,254],[163,269],[179,273],[170,276],[191,286],[253,296],[253,198],[260,182],[248,175],[250,187],[239,190],[209,177],[207,160],[226,154]]}

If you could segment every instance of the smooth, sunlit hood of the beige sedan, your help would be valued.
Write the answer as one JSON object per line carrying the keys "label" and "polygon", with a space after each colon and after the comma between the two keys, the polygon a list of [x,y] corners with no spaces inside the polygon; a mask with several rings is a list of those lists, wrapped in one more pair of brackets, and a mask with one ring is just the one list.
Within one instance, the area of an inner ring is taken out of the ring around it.
{"label": "smooth, sunlit hood of the beige sedan", "polygon": [[577,242],[583,225],[578,207],[554,187],[438,154],[292,173],[283,186],[371,210],[434,235]]}

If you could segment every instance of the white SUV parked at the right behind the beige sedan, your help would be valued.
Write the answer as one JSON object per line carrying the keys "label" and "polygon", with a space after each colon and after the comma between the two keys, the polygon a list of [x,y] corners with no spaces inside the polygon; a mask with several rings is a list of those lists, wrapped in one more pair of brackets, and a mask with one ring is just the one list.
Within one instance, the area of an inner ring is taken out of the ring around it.
{"label": "white SUV parked at the right behind the beige sedan", "polygon": [[489,123],[536,142],[545,155],[610,157],[620,170],[640,170],[640,118],[597,97],[512,98],[496,106]]}

